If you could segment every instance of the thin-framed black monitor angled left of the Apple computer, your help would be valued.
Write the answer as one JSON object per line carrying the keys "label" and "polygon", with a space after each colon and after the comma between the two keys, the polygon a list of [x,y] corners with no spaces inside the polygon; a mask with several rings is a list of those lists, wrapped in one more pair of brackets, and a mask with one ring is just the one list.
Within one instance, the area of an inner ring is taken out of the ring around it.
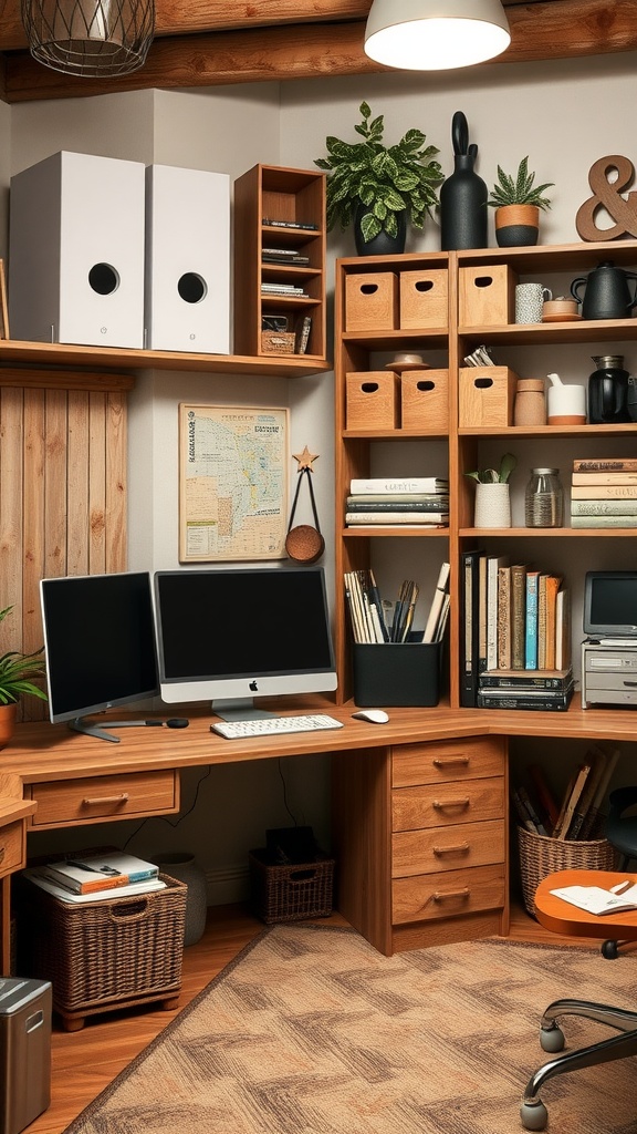
{"label": "thin-framed black monitor angled left of the Apple computer", "polygon": [[148,572],[44,578],[40,595],[51,721],[117,742],[85,718],[159,693]]}

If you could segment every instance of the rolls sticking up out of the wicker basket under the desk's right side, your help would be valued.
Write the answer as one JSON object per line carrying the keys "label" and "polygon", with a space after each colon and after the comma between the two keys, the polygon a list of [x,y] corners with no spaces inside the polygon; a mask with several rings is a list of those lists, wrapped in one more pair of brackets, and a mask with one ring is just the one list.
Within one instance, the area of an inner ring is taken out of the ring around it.
{"label": "rolls sticking up out of the wicker basket under the desk's right side", "polygon": [[511,787],[511,802],[523,827],[553,839],[589,839],[597,835],[620,748],[595,743],[557,793],[540,764],[527,768],[527,782]]}

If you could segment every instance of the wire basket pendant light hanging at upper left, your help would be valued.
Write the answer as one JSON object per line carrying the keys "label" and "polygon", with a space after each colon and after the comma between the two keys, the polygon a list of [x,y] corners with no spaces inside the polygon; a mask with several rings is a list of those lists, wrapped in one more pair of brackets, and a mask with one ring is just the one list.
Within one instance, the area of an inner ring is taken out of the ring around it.
{"label": "wire basket pendant light hanging at upper left", "polygon": [[128,75],[146,60],[154,0],[22,0],[31,54],[67,75]]}

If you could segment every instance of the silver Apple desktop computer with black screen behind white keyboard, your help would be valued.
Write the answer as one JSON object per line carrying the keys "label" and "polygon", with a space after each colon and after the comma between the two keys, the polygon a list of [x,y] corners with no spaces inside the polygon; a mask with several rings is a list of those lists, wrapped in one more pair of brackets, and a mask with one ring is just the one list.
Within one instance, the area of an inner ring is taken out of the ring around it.
{"label": "silver Apple desktop computer with black screen behind white keyboard", "polygon": [[224,719],[270,716],[255,696],[336,689],[321,567],[155,573],[161,695]]}

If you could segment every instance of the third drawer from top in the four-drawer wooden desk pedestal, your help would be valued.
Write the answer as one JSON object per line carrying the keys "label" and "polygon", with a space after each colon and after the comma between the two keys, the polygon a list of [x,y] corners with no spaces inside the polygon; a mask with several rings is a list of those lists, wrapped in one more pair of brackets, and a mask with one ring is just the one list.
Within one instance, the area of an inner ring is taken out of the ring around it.
{"label": "third drawer from top in the four-drawer wooden desk pedestal", "polygon": [[392,836],[392,878],[504,862],[504,821],[455,823]]}

